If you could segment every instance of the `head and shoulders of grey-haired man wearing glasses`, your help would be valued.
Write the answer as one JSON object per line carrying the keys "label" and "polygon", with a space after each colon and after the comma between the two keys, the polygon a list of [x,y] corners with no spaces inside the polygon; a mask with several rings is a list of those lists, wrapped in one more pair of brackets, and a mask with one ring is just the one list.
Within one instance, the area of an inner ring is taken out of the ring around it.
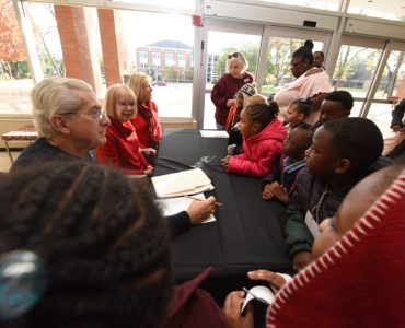
{"label": "head and shoulders of grey-haired man wearing glasses", "polygon": [[35,162],[90,160],[89,151],[105,142],[109,120],[84,81],[45,79],[33,89],[31,99],[40,138],[21,153],[12,169]]}

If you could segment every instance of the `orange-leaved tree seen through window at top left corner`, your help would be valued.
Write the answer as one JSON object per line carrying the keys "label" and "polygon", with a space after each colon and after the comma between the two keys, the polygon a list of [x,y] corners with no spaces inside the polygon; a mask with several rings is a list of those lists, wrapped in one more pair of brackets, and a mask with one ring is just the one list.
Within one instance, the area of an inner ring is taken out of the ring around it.
{"label": "orange-leaved tree seen through window at top left corner", "polygon": [[[26,55],[15,17],[14,7],[10,0],[0,0],[0,65],[9,78],[13,77],[11,66],[26,60]],[[15,75],[14,75],[15,77]]]}

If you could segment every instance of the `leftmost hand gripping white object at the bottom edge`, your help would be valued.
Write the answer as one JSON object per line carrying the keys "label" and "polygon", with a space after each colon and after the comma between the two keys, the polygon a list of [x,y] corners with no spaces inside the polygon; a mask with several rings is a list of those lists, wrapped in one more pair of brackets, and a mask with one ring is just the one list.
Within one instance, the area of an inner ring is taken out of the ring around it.
{"label": "leftmost hand gripping white object at the bottom edge", "polygon": [[245,315],[241,315],[245,292],[236,291],[228,294],[223,304],[223,313],[228,318],[229,327],[231,328],[253,328],[253,306],[247,304]]}

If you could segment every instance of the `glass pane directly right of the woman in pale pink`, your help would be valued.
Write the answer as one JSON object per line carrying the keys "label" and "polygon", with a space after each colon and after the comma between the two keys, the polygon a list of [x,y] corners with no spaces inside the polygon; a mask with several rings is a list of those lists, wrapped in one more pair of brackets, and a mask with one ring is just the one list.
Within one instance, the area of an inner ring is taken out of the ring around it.
{"label": "glass pane directly right of the woman in pale pink", "polygon": [[381,52],[381,49],[343,45],[333,73],[333,87],[346,90],[354,97],[366,97]]}

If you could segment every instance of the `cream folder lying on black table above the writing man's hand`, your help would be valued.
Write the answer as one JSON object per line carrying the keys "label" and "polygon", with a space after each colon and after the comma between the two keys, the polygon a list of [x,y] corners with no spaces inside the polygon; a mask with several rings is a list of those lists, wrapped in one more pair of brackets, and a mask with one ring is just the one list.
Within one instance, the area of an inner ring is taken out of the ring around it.
{"label": "cream folder lying on black table above the writing man's hand", "polygon": [[209,177],[200,169],[187,169],[152,177],[159,198],[194,195],[213,189]]}

